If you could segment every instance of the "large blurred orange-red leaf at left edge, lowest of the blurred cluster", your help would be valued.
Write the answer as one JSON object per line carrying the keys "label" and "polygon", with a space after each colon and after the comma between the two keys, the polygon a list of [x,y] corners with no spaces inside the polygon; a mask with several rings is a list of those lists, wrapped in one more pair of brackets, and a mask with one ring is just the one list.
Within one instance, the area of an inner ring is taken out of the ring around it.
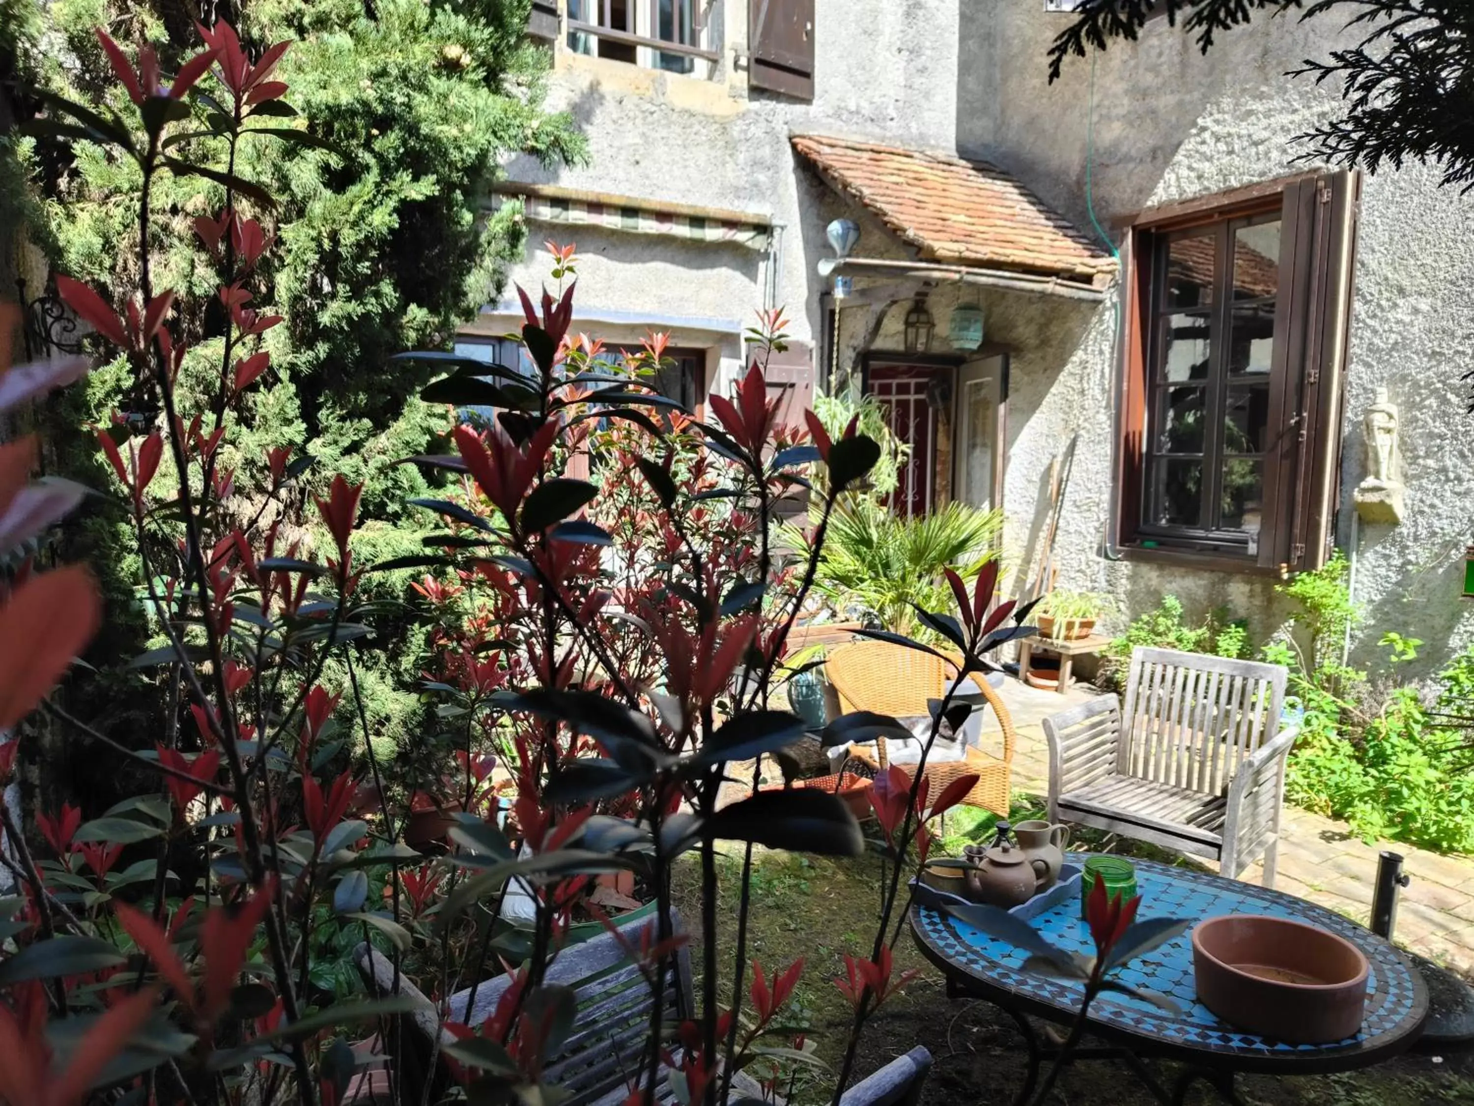
{"label": "large blurred orange-red leaf at left edge, lowest of the blurred cluster", "polygon": [[81,565],[41,572],[0,608],[0,730],[40,705],[97,633],[102,600]]}

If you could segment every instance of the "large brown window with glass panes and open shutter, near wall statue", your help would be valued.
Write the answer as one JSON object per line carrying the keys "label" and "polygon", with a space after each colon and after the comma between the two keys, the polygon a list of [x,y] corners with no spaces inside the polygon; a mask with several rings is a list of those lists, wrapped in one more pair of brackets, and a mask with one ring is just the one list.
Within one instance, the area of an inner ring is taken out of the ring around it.
{"label": "large brown window with glass panes and open shutter, near wall statue", "polygon": [[1356,180],[1300,177],[1132,229],[1125,544],[1316,568],[1340,450]]}

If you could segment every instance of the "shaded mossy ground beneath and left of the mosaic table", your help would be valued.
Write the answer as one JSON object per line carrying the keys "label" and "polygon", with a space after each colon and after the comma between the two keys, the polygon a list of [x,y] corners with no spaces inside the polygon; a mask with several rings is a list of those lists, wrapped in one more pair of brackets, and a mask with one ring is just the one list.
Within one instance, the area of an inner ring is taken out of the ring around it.
{"label": "shaded mossy ground beneath and left of the mosaic table", "polygon": [[[964,818],[967,818],[964,813]],[[970,818],[977,821],[976,818]],[[964,823],[965,824],[965,823]],[[948,836],[958,820],[949,817]],[[980,835],[985,824],[977,824]],[[737,894],[741,849],[730,846],[719,860],[721,908],[718,925],[724,956],[736,941]],[[674,895],[682,923],[693,933],[691,961],[700,995],[700,864],[688,854],[675,869]],[[793,1102],[820,1106],[843,1057],[850,1007],[834,987],[845,976],[845,954],[868,956],[879,911],[880,857],[828,860],[756,849],[752,880],[749,948],[771,978],[803,957],[803,978],[796,991],[796,1023],[806,1026],[808,1040],[831,1071],[802,1072],[793,1085]],[[1007,1015],[979,1001],[952,1001],[943,979],[904,932],[896,944],[896,973],[921,969],[904,994],[892,998],[870,1020],[855,1071],[868,1075],[917,1044],[932,1050],[933,1068],[923,1103],[927,1106],[982,1106],[1011,1103],[1026,1069],[1027,1053]],[[724,966],[724,973],[730,966]],[[749,975],[750,979],[750,975]],[[744,1001],[744,1009],[750,1003]],[[780,1041],[774,1041],[780,1044]],[[787,1044],[783,1041],[781,1044]],[[1176,1071],[1163,1065],[1159,1079],[1170,1087]],[[1447,1057],[1411,1056],[1362,1072],[1335,1077],[1274,1079],[1243,1077],[1240,1090],[1247,1103],[1265,1106],[1422,1106],[1424,1103],[1474,1105],[1474,1054]],[[1195,1097],[1194,1097],[1195,1094]],[[1209,1103],[1206,1088],[1188,1096]],[[1148,1106],[1154,1100],[1135,1077],[1114,1062],[1088,1062],[1060,1081],[1055,1103],[1069,1106]]]}

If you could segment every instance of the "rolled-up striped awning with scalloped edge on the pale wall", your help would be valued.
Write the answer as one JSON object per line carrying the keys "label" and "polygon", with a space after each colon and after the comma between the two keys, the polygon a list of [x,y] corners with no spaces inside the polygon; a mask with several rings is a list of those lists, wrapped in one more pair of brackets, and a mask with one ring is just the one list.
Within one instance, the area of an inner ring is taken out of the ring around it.
{"label": "rolled-up striped awning with scalloped edge on the pale wall", "polygon": [[772,239],[772,220],[747,211],[662,204],[607,192],[565,189],[557,184],[522,184],[511,180],[494,184],[492,192],[522,199],[525,218],[532,223],[603,227],[631,234],[666,234],[694,242],[727,242],[759,252],[766,252]]}

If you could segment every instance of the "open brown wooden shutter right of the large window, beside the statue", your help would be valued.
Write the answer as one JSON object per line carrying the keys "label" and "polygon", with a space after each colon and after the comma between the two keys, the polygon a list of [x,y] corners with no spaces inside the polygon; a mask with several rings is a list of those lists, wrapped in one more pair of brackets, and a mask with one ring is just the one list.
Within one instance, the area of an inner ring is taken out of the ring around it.
{"label": "open brown wooden shutter right of the large window, beside the statue", "polygon": [[1331,550],[1359,192],[1361,177],[1349,171],[1285,189],[1271,397],[1279,413],[1272,465],[1279,467],[1266,472],[1275,534],[1260,563],[1291,572],[1321,568]]}

